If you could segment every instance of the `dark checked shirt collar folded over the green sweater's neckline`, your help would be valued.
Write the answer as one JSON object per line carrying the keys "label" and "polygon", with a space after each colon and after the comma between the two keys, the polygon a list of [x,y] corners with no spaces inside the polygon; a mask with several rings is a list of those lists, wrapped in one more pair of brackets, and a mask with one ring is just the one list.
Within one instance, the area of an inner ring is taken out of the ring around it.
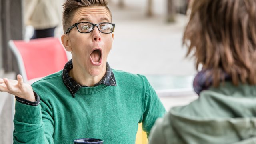
{"label": "dark checked shirt collar folded over the green sweater's neckline", "polygon": [[[73,68],[72,60],[69,60],[64,66],[64,69],[62,72],[62,80],[63,80],[65,86],[67,87],[68,91],[70,92],[70,94],[73,97],[75,97],[76,92],[78,92],[78,90],[81,87],[88,87],[88,86],[82,86],[82,85],[78,84],[73,78],[71,78],[69,76],[68,72],[70,70],[72,70],[72,68]],[[106,86],[116,86],[116,79],[115,79],[114,73],[112,72],[112,69],[110,68],[108,62],[106,64],[105,76],[103,76],[103,78],[100,80],[100,82],[98,82],[94,86],[99,86],[100,84],[105,84]]]}

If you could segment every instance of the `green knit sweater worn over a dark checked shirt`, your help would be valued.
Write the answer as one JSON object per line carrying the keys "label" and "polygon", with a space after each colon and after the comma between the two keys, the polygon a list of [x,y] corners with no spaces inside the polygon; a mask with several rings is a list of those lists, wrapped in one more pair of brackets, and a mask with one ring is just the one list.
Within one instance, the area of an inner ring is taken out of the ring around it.
{"label": "green knit sweater worn over a dark checked shirt", "polygon": [[113,70],[117,86],[82,87],[75,98],[62,71],[32,84],[40,105],[16,102],[14,144],[72,144],[99,138],[104,144],[134,144],[138,123],[150,132],[165,109],[142,75]]}

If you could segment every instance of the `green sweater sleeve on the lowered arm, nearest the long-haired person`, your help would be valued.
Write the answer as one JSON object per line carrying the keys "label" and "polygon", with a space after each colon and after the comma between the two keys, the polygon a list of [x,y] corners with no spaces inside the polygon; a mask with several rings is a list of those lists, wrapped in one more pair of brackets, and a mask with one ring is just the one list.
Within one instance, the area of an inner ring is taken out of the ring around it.
{"label": "green sweater sleeve on the lowered arm, nearest the long-haired person", "polygon": [[149,135],[152,126],[157,118],[164,116],[166,110],[158,98],[155,90],[149,84],[145,76],[142,76],[145,82],[145,97],[142,112],[142,129]]}

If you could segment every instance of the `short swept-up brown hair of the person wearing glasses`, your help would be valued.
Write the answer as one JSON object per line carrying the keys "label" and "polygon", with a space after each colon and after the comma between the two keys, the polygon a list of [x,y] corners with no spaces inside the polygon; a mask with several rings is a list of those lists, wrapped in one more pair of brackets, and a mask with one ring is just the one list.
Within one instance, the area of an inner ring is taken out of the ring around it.
{"label": "short swept-up brown hair of the person wearing glasses", "polygon": [[62,13],[62,24],[64,33],[71,26],[71,20],[73,19],[74,12],[81,7],[92,7],[92,6],[104,6],[108,10],[111,21],[112,13],[108,8],[107,0],[66,0],[63,4],[63,13]]}

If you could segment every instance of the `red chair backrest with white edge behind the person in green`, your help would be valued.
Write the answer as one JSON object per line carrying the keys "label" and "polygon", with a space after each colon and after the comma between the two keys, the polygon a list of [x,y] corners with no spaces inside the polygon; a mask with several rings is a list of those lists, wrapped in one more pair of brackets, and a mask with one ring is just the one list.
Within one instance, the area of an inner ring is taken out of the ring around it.
{"label": "red chair backrest with white edge behind the person in green", "polygon": [[24,82],[42,78],[64,68],[66,51],[58,38],[10,40],[9,46],[17,58]]}

